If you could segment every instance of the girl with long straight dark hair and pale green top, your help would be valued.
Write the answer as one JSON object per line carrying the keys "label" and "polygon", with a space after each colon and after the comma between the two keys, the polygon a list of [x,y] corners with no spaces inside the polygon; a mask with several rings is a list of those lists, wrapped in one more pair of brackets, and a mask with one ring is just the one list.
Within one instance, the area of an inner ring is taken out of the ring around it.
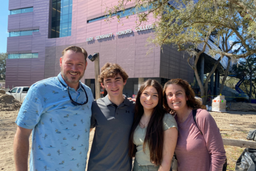
{"label": "girl with long straight dark hair and pale green top", "polygon": [[143,82],[138,91],[131,130],[129,155],[133,171],[170,170],[178,130],[174,117],[164,107],[162,86],[156,80]]}

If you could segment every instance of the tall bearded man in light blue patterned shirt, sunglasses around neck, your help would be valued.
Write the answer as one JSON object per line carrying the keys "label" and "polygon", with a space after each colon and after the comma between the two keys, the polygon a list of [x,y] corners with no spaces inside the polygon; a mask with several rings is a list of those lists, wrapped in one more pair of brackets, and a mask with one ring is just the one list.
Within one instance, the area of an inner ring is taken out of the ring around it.
{"label": "tall bearded man in light blue patterned shirt, sunglasses around neck", "polygon": [[60,58],[57,77],[34,83],[22,104],[16,124],[16,170],[85,170],[89,148],[90,88],[79,80],[87,66],[87,52],[69,46]]}

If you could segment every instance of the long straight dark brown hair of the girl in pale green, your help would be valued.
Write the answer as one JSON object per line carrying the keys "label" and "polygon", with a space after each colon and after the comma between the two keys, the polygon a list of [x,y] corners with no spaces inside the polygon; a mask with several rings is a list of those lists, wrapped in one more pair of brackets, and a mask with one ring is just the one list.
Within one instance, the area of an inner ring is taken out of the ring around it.
{"label": "long straight dark brown hair of the girl in pale green", "polygon": [[162,86],[156,80],[148,79],[143,82],[141,88],[139,88],[135,104],[135,115],[129,139],[129,155],[130,157],[135,157],[136,145],[133,143],[133,135],[144,113],[144,109],[139,98],[141,97],[142,92],[149,86],[152,86],[157,90],[158,104],[154,108],[154,111],[152,112],[148,122],[143,144],[143,151],[145,144],[147,143],[150,151],[150,162],[154,163],[155,165],[160,165],[162,161],[162,146],[164,142],[164,129],[162,127],[162,119],[164,118],[164,115],[167,113],[167,111],[162,106]]}

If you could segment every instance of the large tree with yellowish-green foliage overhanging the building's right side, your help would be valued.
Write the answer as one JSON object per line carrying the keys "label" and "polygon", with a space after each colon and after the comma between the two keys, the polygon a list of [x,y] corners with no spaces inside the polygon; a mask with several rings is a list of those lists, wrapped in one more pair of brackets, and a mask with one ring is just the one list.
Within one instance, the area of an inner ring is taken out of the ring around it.
{"label": "large tree with yellowish-green foliage overhanging the building's right side", "polygon": [[[253,0],[119,0],[118,5],[106,8],[109,16],[107,21],[111,20],[113,14],[124,10],[129,3],[133,3],[133,8],[136,9],[149,7],[148,11],[137,14],[137,25],[146,22],[149,15],[153,14],[156,18],[155,38],[149,38],[149,42],[160,46],[174,44],[179,51],[189,54],[188,63],[195,72],[204,104],[208,81],[220,59],[227,56],[230,62],[256,53],[256,8]],[[121,20],[119,16],[117,17]],[[209,43],[210,39],[214,45]],[[229,40],[233,41],[230,47]],[[218,48],[219,45],[225,48]],[[238,46],[235,53],[231,52],[234,46]],[[204,86],[196,68],[197,61],[203,53],[220,56]],[[194,63],[190,63],[190,58],[194,59]],[[228,69],[226,75],[227,73]]]}

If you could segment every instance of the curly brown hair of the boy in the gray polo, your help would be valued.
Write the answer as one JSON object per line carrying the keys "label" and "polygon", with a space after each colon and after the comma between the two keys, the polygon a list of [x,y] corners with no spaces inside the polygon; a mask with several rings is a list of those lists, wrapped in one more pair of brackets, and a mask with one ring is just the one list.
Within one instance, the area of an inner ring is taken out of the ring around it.
{"label": "curly brown hair of the boy in the gray polo", "polygon": [[128,75],[125,70],[118,64],[106,63],[102,68],[99,75],[99,83],[103,83],[104,78],[114,78],[120,74],[123,81],[128,79]]}

